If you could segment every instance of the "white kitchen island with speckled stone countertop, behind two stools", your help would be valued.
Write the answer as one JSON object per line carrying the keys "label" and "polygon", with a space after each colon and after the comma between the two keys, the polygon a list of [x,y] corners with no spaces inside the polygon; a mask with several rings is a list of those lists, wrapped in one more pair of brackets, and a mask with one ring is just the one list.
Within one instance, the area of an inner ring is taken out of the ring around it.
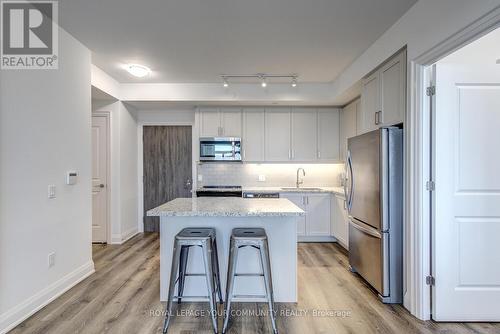
{"label": "white kitchen island with speckled stone countertop, behind two stools", "polygon": [[[276,302],[297,301],[297,220],[305,213],[284,198],[243,199],[239,197],[177,198],[147,212],[160,217],[160,299],[165,301],[170,281],[174,238],[186,227],[212,227],[217,234],[217,248],[225,295],[229,258],[229,238],[233,228],[262,227],[269,239],[274,299]],[[238,255],[238,273],[260,273],[256,249],[245,247]],[[203,273],[201,250],[189,253],[187,272]],[[264,295],[260,277],[239,276],[235,280],[235,294]],[[207,294],[205,278],[186,278],[185,296]],[[225,297],[224,297],[225,298]],[[256,301],[239,300],[239,301]],[[258,299],[257,299],[258,301]],[[264,301],[262,299],[262,301]]]}

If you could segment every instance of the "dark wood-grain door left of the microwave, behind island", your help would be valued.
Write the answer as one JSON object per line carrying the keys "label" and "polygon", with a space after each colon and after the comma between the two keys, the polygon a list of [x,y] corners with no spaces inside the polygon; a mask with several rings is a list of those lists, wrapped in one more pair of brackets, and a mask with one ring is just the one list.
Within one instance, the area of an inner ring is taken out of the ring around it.
{"label": "dark wood-grain door left of the microwave, behind island", "polygon": [[158,232],[159,217],[146,212],[179,197],[191,197],[190,126],[144,126],[144,231]]}

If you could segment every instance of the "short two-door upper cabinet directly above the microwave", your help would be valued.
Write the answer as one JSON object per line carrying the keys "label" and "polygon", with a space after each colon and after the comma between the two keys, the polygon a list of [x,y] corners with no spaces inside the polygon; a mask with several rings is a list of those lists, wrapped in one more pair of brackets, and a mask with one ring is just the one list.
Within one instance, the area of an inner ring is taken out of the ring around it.
{"label": "short two-door upper cabinet directly above the microwave", "polygon": [[201,137],[241,137],[241,110],[202,108],[200,111]]}

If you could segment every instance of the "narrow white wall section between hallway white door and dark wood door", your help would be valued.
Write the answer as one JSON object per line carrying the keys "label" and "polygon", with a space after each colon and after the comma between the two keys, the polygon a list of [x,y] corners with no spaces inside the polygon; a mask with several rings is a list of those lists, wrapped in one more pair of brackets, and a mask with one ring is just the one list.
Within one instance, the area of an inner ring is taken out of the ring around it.
{"label": "narrow white wall section between hallway white door and dark wood door", "polygon": [[120,101],[93,101],[93,111],[110,114],[110,242],[120,244],[137,230],[137,121],[135,110]]}

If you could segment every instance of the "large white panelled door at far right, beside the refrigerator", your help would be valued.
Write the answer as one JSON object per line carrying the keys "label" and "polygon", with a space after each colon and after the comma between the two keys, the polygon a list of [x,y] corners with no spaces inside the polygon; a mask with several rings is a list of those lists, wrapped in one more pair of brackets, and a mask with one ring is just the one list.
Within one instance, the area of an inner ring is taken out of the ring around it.
{"label": "large white panelled door at far right, beside the refrigerator", "polygon": [[433,318],[499,321],[500,67],[440,63],[435,98]]}

